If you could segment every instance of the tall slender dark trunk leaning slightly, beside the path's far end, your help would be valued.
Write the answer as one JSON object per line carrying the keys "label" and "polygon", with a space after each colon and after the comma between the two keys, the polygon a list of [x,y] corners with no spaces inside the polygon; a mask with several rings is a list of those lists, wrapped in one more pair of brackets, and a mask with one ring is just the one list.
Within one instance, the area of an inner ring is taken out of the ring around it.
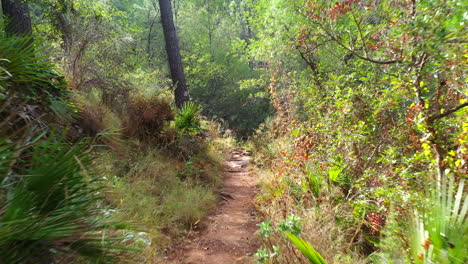
{"label": "tall slender dark trunk leaning slightly, beside the path's far end", "polygon": [[167,59],[171,71],[172,83],[176,86],[174,90],[175,103],[178,108],[189,100],[187,83],[185,81],[184,67],[180,57],[177,32],[172,18],[171,0],[159,0],[161,9],[161,22],[166,40]]}

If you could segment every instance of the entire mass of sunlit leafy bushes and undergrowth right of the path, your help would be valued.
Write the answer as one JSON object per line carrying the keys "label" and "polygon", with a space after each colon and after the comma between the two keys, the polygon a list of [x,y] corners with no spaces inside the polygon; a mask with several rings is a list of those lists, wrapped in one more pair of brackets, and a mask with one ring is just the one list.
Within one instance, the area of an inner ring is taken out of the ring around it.
{"label": "entire mass of sunlit leafy bushes and undergrowth right of the path", "polygon": [[277,116],[251,140],[258,262],[309,263],[290,233],[330,263],[465,263],[466,5],[255,6],[257,52],[288,55],[262,57]]}

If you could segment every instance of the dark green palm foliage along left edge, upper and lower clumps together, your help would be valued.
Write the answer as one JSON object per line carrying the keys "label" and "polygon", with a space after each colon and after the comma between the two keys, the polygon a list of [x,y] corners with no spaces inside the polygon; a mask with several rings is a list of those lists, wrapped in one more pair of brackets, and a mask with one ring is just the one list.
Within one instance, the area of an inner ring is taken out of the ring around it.
{"label": "dark green palm foliage along left edge, upper and lower clumps together", "polygon": [[104,217],[100,178],[86,171],[88,142],[52,132],[75,120],[63,77],[29,38],[0,43],[1,262],[116,261],[119,224]]}

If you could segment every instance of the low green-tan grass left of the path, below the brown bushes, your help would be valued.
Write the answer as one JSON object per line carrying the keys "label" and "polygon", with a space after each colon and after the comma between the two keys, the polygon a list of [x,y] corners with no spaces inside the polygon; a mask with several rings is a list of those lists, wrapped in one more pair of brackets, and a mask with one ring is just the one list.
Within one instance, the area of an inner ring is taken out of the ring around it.
{"label": "low green-tan grass left of the path, below the brown bushes", "polygon": [[[134,223],[127,233],[150,243],[131,243],[142,252],[137,263],[156,263],[164,249],[180,241],[216,204],[222,183],[224,146],[208,144],[190,161],[180,161],[166,150],[141,150],[140,143],[125,141],[123,153],[98,153],[96,171],[106,178],[105,197],[112,217]],[[126,233],[126,234],[127,234]]]}

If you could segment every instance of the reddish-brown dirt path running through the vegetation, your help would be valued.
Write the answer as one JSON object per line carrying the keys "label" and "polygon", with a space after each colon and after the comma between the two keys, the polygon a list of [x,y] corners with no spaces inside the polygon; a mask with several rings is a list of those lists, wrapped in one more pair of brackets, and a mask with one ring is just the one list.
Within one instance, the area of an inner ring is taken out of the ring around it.
{"label": "reddish-brown dirt path running through the vegetation", "polygon": [[247,165],[250,156],[236,150],[226,162],[223,198],[208,216],[206,229],[169,258],[184,264],[253,263],[257,222],[253,206],[255,181]]}

